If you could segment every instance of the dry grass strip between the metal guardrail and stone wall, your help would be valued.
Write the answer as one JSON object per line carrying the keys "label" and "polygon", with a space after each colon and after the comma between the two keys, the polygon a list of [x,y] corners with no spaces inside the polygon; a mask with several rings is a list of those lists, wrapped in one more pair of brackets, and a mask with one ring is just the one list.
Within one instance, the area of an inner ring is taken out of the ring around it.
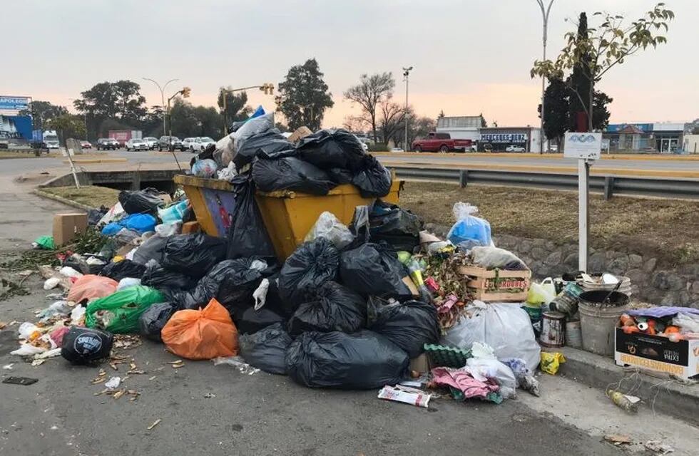
{"label": "dry grass strip between the metal guardrail and stone wall", "polygon": [[[451,207],[464,201],[479,207],[494,234],[577,242],[576,192],[406,182],[401,206],[425,222],[454,223]],[[683,199],[590,197],[591,247],[652,254],[672,266],[699,260],[699,202]]]}

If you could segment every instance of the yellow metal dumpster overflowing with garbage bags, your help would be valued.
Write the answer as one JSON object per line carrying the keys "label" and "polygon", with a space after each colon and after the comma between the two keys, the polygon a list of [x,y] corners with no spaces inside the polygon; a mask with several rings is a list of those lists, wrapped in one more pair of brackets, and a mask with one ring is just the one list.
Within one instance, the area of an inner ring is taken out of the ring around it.
{"label": "yellow metal dumpster overflowing with garbage bags", "polygon": [[[235,209],[233,185],[225,180],[186,175],[175,175],[174,181],[183,186],[203,231],[211,236],[226,237]],[[402,182],[394,176],[391,191],[382,199],[398,204],[401,187]],[[332,212],[340,222],[350,224],[354,208],[369,204],[375,198],[362,198],[357,187],[346,184],[338,185],[324,196],[280,190],[257,192],[255,199],[277,258],[284,261],[302,244],[322,212]]]}

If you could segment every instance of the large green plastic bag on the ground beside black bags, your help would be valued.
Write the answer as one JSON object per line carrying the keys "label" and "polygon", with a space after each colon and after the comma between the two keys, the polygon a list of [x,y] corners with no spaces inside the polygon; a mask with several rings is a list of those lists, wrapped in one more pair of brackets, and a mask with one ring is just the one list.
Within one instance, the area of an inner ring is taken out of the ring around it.
{"label": "large green plastic bag on the ground beside black bags", "polygon": [[[88,304],[85,324],[111,333],[138,333],[138,318],[152,304],[165,301],[160,291],[150,286],[130,286]],[[98,311],[103,311],[99,316]]]}

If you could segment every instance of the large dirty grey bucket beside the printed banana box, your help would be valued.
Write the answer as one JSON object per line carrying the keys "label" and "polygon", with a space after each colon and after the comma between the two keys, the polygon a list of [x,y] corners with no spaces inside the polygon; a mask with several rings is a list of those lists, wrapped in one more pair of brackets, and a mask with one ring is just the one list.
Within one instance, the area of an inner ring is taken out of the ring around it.
{"label": "large dirty grey bucket beside the printed banana box", "polygon": [[614,328],[628,306],[628,296],[614,291],[608,304],[602,305],[609,291],[585,291],[580,294],[580,329],[583,350],[610,356],[614,353]]}

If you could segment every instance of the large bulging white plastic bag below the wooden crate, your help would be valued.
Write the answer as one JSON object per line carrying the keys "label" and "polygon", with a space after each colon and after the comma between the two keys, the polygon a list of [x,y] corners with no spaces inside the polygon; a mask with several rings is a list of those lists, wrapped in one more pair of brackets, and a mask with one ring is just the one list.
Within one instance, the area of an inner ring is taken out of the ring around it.
{"label": "large bulging white plastic bag below the wooden crate", "polygon": [[472,318],[462,317],[442,344],[471,349],[474,342],[487,343],[499,359],[521,358],[526,367],[535,371],[541,359],[541,348],[534,337],[529,315],[519,303],[484,304],[474,301],[479,308]]}

